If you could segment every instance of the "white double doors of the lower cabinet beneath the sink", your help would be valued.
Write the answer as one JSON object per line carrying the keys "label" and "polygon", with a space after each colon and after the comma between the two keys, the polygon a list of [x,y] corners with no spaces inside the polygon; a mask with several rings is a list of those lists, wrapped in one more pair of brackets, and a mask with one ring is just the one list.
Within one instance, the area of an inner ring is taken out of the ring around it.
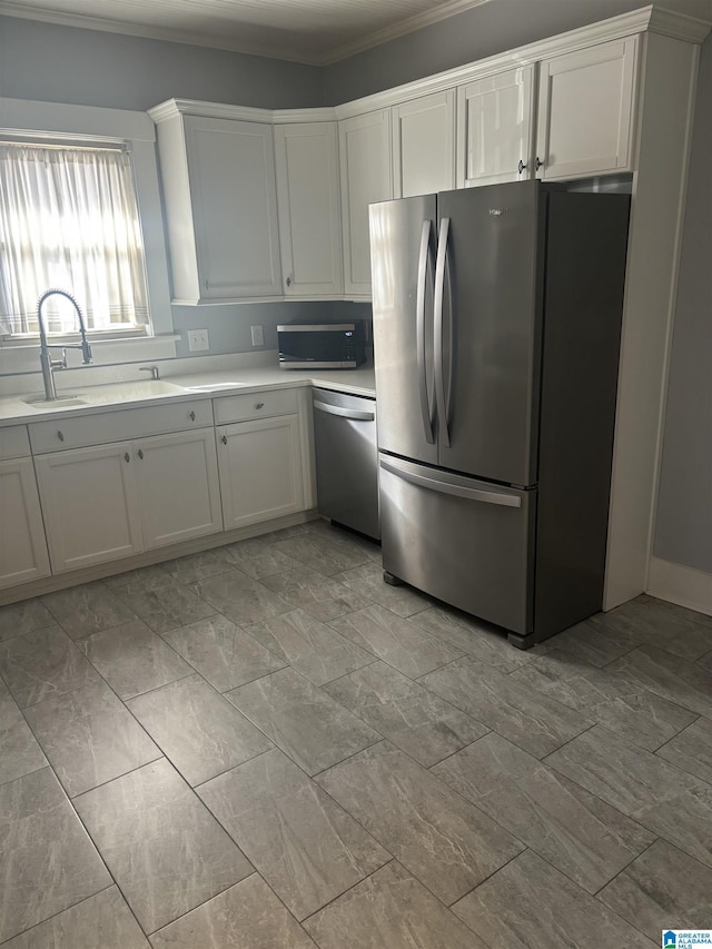
{"label": "white double doors of the lower cabinet beneath the sink", "polygon": [[214,429],[34,458],[52,573],[221,528]]}

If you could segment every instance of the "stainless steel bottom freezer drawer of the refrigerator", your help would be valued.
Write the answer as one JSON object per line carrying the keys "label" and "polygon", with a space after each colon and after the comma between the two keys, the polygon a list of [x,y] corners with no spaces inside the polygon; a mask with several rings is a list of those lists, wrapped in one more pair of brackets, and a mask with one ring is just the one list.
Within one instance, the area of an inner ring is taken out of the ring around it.
{"label": "stainless steel bottom freezer drawer of the refrigerator", "polygon": [[536,491],[379,456],[384,570],[452,606],[533,630]]}

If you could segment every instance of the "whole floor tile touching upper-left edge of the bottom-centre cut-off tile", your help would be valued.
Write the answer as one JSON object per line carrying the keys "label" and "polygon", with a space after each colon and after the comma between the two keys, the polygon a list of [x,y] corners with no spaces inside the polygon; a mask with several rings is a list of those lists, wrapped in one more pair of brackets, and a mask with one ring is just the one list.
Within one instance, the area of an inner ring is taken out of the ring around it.
{"label": "whole floor tile touching upper-left edge of the bottom-centre cut-off tile", "polygon": [[198,792],[297,919],[390,859],[276,749],[208,781]]}

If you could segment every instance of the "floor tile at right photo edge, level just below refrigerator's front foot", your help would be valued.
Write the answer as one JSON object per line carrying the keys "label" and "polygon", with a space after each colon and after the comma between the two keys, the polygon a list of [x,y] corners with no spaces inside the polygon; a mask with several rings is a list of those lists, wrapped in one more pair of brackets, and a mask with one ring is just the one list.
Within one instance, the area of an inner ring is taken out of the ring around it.
{"label": "floor tile at right photo edge, level just below refrigerator's front foot", "polygon": [[712,669],[653,646],[640,646],[607,665],[606,672],[712,719]]}

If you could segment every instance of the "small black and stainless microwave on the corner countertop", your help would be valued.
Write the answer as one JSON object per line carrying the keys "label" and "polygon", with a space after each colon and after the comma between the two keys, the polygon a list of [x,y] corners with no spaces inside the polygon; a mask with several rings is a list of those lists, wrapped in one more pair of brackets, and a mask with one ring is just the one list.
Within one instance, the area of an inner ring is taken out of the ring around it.
{"label": "small black and stainless microwave on the corner countertop", "polygon": [[280,369],[355,369],[366,362],[364,322],[277,327]]}

